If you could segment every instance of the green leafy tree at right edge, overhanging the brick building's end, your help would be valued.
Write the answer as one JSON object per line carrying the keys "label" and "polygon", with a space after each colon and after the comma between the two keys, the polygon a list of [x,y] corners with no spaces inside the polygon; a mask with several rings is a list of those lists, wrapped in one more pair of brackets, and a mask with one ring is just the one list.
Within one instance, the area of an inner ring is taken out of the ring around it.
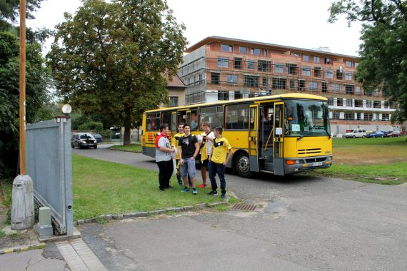
{"label": "green leafy tree at right edge, overhanging the brick building's end", "polygon": [[366,91],[383,91],[398,111],[392,121],[407,119],[407,1],[341,0],[330,7],[329,22],[345,15],[348,26],[361,21],[358,81]]}

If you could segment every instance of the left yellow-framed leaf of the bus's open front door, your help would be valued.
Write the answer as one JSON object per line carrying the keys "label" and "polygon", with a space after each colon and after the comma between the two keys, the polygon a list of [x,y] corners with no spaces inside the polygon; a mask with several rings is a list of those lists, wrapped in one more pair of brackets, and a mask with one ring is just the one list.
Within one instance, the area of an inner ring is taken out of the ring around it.
{"label": "left yellow-framed leaf of the bus's open front door", "polygon": [[250,106],[248,126],[248,155],[250,170],[258,172],[258,105]]}

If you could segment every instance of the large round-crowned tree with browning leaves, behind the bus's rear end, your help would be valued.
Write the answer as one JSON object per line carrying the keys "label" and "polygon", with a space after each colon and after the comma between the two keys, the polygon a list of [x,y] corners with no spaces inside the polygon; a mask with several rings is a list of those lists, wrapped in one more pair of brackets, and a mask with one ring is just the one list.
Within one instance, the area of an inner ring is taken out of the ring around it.
{"label": "large round-crowned tree with browning leaves, behind the bus's rear end", "polygon": [[130,130],[147,109],[166,103],[166,78],[186,39],[165,0],[87,0],[65,14],[47,55],[56,88],[84,113],[101,113]]}

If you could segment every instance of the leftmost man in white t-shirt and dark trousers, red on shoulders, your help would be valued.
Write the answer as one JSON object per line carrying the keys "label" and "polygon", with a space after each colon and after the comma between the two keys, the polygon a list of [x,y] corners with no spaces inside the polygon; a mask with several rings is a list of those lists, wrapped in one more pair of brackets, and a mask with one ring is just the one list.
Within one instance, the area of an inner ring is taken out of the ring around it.
{"label": "leftmost man in white t-shirt and dark trousers, red on shoulders", "polygon": [[168,139],[169,126],[162,124],[160,126],[160,133],[156,136],[156,162],[159,165],[159,183],[160,190],[164,191],[166,188],[172,188],[169,184],[172,173],[174,171],[174,164],[172,162],[172,154],[176,151],[171,148]]}

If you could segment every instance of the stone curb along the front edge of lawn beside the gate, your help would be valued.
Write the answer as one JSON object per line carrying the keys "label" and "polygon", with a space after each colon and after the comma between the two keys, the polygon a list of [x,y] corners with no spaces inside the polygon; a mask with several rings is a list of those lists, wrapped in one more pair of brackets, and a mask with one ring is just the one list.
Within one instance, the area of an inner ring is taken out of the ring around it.
{"label": "stone curb along the front edge of lawn beside the gate", "polygon": [[[133,212],[133,213],[124,213],[124,214],[119,214],[119,215],[99,215],[99,217],[96,218],[88,218],[88,219],[83,219],[83,220],[77,220],[74,221],[74,225],[83,225],[83,224],[88,224],[88,223],[96,223],[98,220],[122,220],[125,218],[146,218],[151,215],[161,215],[166,212],[189,212],[194,210],[195,208],[197,209],[204,209],[204,208],[213,208],[218,205],[224,205],[228,204],[228,201],[221,201],[218,203],[198,203],[196,205],[187,205],[184,207],[170,207],[166,209],[159,209],[159,210],[152,210],[149,212]],[[1,253],[0,253],[1,254]]]}

